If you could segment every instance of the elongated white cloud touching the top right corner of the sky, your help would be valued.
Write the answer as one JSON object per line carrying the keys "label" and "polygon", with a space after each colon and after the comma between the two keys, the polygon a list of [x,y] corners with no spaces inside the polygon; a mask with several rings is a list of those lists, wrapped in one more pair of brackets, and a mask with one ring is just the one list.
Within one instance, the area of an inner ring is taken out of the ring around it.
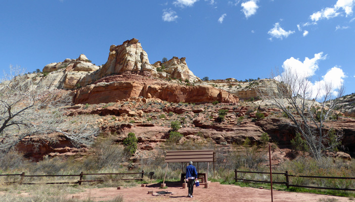
{"label": "elongated white cloud touching the top right corner of the sky", "polygon": [[325,8],[322,9],[322,11],[318,11],[316,13],[313,13],[310,15],[310,19],[312,21],[319,21],[322,19],[330,19],[339,16],[341,13],[341,10],[345,12],[346,17],[350,16],[352,14],[352,7],[355,5],[355,0],[338,0],[334,7],[332,8]]}

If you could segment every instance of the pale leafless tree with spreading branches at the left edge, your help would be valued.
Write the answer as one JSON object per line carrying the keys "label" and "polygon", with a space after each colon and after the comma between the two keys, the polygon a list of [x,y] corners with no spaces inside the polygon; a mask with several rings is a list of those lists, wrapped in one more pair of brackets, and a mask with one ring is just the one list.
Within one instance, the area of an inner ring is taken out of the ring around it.
{"label": "pale leafless tree with spreading branches at the left edge", "polygon": [[19,68],[0,83],[0,151],[8,153],[24,137],[60,132],[74,145],[90,144],[99,129],[88,117],[66,117],[64,106],[72,102],[70,92],[48,89],[39,74],[24,76]]}

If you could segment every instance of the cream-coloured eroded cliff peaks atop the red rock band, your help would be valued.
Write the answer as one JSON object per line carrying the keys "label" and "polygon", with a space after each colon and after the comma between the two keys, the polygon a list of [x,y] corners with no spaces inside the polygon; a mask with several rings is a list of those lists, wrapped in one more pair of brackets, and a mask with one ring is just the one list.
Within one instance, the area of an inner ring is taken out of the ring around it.
{"label": "cream-coloured eroded cliff peaks atop the red rock band", "polygon": [[174,57],[163,64],[157,62],[151,65],[148,54],[136,38],[126,40],[121,45],[111,45],[109,57],[103,66],[92,64],[81,54],[78,59],[65,59],[60,63],[46,65],[43,72],[48,75],[41,80],[52,88],[77,89],[108,75],[142,71],[157,78],[189,80],[191,83],[201,81],[190,71],[185,58]]}

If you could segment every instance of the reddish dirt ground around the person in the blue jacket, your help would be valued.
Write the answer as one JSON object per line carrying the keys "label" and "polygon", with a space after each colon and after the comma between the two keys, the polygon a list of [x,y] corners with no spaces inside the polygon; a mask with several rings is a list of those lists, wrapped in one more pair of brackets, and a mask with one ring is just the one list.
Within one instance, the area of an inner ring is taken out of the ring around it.
{"label": "reddish dirt ground around the person in the blue jacket", "polygon": [[[75,198],[88,198],[95,201],[105,201],[113,199],[118,195],[122,195],[125,202],[136,202],[136,201],[223,201],[223,202],[234,202],[234,201],[271,201],[270,190],[268,189],[257,189],[250,187],[239,187],[235,185],[223,185],[219,182],[210,183],[210,188],[206,189],[203,186],[194,188],[194,197],[187,197],[187,189],[183,189],[182,186],[174,184],[168,184],[168,188],[160,189],[159,184],[149,185],[147,187],[131,187],[123,188],[117,190],[116,187],[112,188],[94,188],[87,189],[84,192],[73,194]],[[161,195],[153,196],[148,194],[148,191],[169,191],[172,192],[171,195]],[[347,197],[338,197],[338,196],[328,196],[328,195],[319,195],[312,193],[295,193],[287,191],[276,191],[273,192],[274,201],[289,201],[289,202],[316,202],[320,199],[330,199],[335,198],[337,202],[350,201]],[[321,200],[323,201],[323,200]],[[333,200],[332,200],[333,201]]]}

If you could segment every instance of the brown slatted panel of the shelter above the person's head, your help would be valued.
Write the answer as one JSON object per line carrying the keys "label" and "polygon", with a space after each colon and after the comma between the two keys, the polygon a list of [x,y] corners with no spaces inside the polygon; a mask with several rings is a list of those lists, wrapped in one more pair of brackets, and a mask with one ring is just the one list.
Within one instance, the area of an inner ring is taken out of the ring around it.
{"label": "brown slatted panel of the shelter above the person's head", "polygon": [[215,162],[213,150],[166,151],[165,163],[180,162]]}

